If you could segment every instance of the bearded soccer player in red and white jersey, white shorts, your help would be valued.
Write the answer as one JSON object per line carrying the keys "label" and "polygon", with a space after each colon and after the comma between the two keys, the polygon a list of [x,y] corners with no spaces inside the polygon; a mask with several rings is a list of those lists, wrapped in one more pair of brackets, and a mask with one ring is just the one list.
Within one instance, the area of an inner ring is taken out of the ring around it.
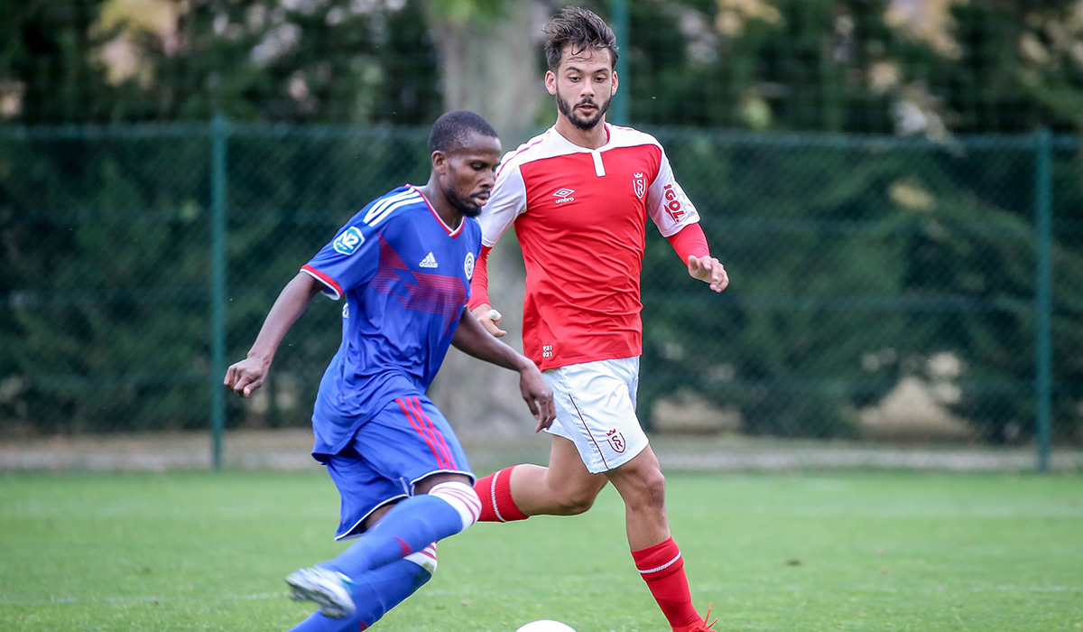
{"label": "bearded soccer player in red and white jersey, white shorts", "polygon": [[548,467],[517,465],[474,485],[481,520],[579,514],[612,482],[625,503],[632,558],[669,625],[706,631],[712,623],[692,605],[669,534],[665,479],[636,417],[648,218],[690,275],[715,292],[729,278],[658,142],[605,122],[618,83],[613,31],[593,13],[566,8],[545,33],[557,124],[501,160],[479,218],[470,308],[491,333],[506,333],[490,318],[486,256],[514,225],[526,265],[523,350],[552,387],[557,421]]}

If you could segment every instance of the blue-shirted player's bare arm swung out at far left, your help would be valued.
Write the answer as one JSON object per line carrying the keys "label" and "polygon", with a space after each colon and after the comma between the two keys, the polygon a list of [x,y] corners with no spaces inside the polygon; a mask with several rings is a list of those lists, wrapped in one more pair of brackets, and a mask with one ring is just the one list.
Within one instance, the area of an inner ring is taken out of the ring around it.
{"label": "blue-shirted player's bare arm swung out at far left", "polygon": [[286,337],[286,332],[293,326],[312,299],[323,289],[324,285],[305,272],[298,273],[286,284],[271,307],[266,320],[263,321],[263,326],[252,348],[248,350],[248,356],[225,372],[224,384],[227,388],[240,397],[248,397],[262,386],[274,354]]}

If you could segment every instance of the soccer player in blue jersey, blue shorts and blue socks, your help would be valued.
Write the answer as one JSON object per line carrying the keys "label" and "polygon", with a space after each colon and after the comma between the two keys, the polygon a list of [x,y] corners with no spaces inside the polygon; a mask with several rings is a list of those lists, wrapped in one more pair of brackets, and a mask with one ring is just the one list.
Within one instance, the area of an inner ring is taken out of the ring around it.
{"label": "soccer player in blue jersey, blue shorts and blue socks", "polygon": [[225,375],[248,397],[315,295],[345,298],[342,344],[312,413],[312,455],[342,499],[336,540],[356,540],[286,578],[293,598],[321,606],[295,631],[367,629],[432,577],[438,540],[478,520],[466,454],[425,395],[449,345],[518,371],[538,430],[554,416],[534,362],[466,307],[481,249],[474,218],[500,160],[496,132],[472,112],[451,112],[433,124],[429,151],[428,183],[400,186],[353,216],[286,285],[247,358]]}

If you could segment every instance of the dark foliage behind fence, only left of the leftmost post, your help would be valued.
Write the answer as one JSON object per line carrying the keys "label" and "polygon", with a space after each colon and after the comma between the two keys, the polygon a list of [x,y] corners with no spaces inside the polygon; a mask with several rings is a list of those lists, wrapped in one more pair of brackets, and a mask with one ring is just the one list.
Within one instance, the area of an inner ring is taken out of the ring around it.
{"label": "dark foliage behind fence, only left of the leftmost post", "polygon": [[5,416],[63,431],[205,424],[208,147],[0,144]]}

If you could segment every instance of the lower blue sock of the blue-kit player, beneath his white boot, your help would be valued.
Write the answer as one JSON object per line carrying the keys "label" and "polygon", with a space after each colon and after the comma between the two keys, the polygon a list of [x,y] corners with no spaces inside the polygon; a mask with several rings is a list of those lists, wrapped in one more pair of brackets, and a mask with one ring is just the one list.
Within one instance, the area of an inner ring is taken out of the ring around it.
{"label": "lower blue sock of the blue-kit player, beneath his white boot", "polygon": [[432,573],[409,559],[400,559],[353,580],[353,603],[357,611],[345,619],[329,619],[318,611],[301,621],[290,632],[357,632],[367,630],[383,615],[414,594]]}

